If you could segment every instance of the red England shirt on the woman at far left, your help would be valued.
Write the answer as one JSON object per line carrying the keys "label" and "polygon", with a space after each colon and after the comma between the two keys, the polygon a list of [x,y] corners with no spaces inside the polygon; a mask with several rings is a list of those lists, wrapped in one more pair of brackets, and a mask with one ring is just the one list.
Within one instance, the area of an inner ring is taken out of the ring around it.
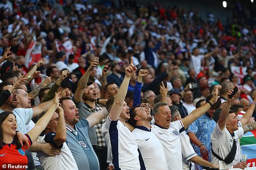
{"label": "red England shirt on the woman at far left", "polygon": [[[32,145],[32,141],[28,134],[25,134],[27,138],[29,138],[29,145]],[[25,170],[26,168],[22,168],[22,166],[28,165],[28,158],[25,155],[25,148],[17,150],[17,146],[12,141],[10,144],[6,144],[3,142],[3,148],[0,150],[0,167],[5,164],[8,168],[8,163],[15,166],[15,168],[11,168],[12,170]],[[20,163],[20,164],[19,164]],[[10,170],[10,169],[8,169]]]}

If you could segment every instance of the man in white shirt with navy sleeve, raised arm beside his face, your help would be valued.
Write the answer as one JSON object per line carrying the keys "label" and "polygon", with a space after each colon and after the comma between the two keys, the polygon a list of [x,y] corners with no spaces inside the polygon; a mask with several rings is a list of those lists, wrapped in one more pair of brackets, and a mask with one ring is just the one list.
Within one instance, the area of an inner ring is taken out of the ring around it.
{"label": "man in white shirt with navy sleeve, raised arm beside his face", "polygon": [[78,170],[74,157],[66,144],[66,123],[62,107],[58,106],[45,128],[44,134],[37,138],[37,142],[50,143],[55,148],[60,149],[60,153],[54,157],[43,152],[37,153],[43,170]]}

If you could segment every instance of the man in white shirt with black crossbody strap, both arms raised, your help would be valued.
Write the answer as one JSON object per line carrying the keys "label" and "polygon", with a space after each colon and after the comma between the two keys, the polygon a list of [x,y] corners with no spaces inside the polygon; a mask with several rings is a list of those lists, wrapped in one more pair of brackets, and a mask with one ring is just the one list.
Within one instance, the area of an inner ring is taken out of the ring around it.
{"label": "man in white shirt with black crossbody strap, both arms raised", "polygon": [[[228,92],[228,95],[231,95],[232,92],[233,90],[231,89]],[[236,159],[239,159],[239,155],[237,155],[238,153],[236,153],[237,151],[239,151],[238,147],[240,147],[239,139],[242,138],[244,134],[244,130],[246,130],[246,132],[248,131],[247,127],[242,127],[242,126],[246,125],[248,120],[251,118],[252,112],[255,107],[255,100],[254,100],[252,105],[244,115],[244,117],[239,121],[235,115],[235,112],[230,110],[231,102],[235,100],[235,97],[236,95],[234,95],[232,99],[227,97],[227,102],[223,107],[222,111],[220,112],[218,123],[211,134],[211,144],[212,144],[211,162],[214,164],[219,164],[220,169],[233,168],[233,165],[234,167],[239,167],[239,168],[244,168],[241,166],[245,166],[245,164],[243,162],[239,162],[239,160],[235,160],[230,163],[228,163],[227,160],[223,161],[227,158],[227,155],[231,152],[232,147],[235,147],[235,153],[233,157]],[[216,155],[219,158],[217,158]]]}

